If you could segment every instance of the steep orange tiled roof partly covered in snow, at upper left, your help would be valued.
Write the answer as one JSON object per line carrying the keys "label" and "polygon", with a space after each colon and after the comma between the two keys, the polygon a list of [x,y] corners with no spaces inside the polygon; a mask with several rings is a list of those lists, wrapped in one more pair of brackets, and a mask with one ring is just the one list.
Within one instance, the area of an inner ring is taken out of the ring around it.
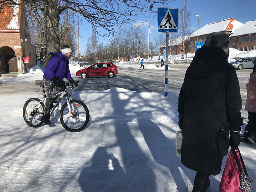
{"label": "steep orange tiled roof partly covered in snow, at upper left", "polygon": [[[16,3],[19,3],[17,0]],[[20,6],[4,6],[0,12],[0,30],[16,31],[20,29]]]}

